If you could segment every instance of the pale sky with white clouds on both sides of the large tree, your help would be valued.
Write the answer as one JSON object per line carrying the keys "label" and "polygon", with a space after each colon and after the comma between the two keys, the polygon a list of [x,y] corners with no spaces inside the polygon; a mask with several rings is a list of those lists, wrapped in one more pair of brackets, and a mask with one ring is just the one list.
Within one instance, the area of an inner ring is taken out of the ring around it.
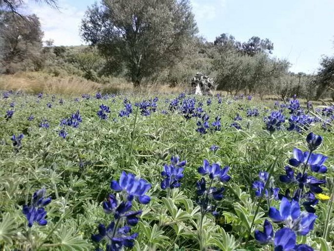
{"label": "pale sky with white clouds on both sides of the large tree", "polygon": [[[26,0],[26,11],[41,22],[44,40],[85,44],[81,19],[95,0],[58,0],[59,10]],[[213,42],[222,33],[246,42],[253,36],[274,43],[273,56],[293,72],[314,73],[322,55],[334,54],[334,0],[190,0],[198,35]]]}

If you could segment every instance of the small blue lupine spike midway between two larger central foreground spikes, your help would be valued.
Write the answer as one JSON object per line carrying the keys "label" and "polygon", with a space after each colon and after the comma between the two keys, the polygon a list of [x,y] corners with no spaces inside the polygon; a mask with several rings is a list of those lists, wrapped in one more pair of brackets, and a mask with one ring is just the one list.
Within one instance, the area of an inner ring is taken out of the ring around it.
{"label": "small blue lupine spike midway between two larger central foreground spikes", "polygon": [[[184,168],[182,166],[186,165],[186,162],[184,163],[179,162],[178,156],[172,157],[171,159],[172,164],[171,165],[164,165],[163,171],[161,172],[161,176],[165,177],[164,180],[161,182],[161,188],[179,188],[181,184],[179,183],[179,180],[183,178],[183,170]],[[179,167],[177,167],[179,165]],[[176,167],[175,167],[176,166]]]}

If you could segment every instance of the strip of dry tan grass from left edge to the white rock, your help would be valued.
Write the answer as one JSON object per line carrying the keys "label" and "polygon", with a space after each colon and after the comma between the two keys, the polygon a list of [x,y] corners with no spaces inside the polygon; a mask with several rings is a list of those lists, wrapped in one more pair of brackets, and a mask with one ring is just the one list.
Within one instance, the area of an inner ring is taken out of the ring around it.
{"label": "strip of dry tan grass from left edge to the white rock", "polygon": [[0,75],[0,89],[22,90],[27,93],[48,93],[78,95],[82,93],[134,93],[136,95],[157,95],[181,93],[184,86],[145,85],[138,89],[122,78],[110,78],[108,84],[98,84],[78,76],[51,76],[43,72],[20,72],[14,75]]}

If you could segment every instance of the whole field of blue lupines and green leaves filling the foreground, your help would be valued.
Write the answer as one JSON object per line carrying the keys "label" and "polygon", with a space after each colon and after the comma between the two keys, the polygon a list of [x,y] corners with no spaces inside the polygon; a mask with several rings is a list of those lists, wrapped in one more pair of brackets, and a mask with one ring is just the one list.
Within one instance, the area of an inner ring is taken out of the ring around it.
{"label": "whole field of blue lupines and green leaves filling the foreground", "polygon": [[330,251],[334,107],[0,97],[0,250]]}

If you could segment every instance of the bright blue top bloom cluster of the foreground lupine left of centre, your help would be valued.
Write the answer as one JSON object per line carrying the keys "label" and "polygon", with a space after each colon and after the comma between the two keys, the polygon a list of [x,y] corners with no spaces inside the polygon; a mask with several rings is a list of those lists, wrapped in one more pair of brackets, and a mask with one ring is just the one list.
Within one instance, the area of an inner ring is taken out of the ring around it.
{"label": "bright blue top bloom cluster of the foreground lupine left of centre", "polygon": [[137,197],[139,203],[147,204],[151,200],[151,198],[145,194],[151,188],[151,184],[144,179],[136,177],[132,173],[127,174],[123,171],[120,175],[119,182],[113,180],[110,187],[115,191],[126,192],[129,201]]}

